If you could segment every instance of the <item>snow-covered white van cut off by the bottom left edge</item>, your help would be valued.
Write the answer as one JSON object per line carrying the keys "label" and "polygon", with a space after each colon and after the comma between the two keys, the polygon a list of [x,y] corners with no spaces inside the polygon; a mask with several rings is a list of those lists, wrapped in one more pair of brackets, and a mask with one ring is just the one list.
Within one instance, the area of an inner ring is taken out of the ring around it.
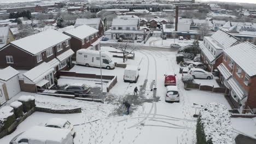
{"label": "snow-covered white van cut off by the bottom left edge", "polygon": [[73,136],[69,130],[34,126],[10,141],[10,144],[19,143],[73,144]]}

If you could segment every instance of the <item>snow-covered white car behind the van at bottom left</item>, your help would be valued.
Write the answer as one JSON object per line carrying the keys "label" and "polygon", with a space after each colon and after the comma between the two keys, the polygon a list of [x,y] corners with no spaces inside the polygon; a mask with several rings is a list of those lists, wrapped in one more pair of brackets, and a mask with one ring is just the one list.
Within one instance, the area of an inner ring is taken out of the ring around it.
{"label": "snow-covered white car behind the van at bottom left", "polygon": [[59,128],[59,129],[68,129],[71,131],[71,135],[74,137],[75,131],[74,126],[64,118],[51,118],[46,124],[45,127]]}

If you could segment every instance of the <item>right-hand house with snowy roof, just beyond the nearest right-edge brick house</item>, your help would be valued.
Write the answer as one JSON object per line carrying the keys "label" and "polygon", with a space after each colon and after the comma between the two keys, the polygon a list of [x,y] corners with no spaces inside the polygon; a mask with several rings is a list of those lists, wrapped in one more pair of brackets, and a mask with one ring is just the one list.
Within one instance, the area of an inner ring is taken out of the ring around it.
{"label": "right-hand house with snowy roof, just beyond the nearest right-edge brick house", "polygon": [[239,43],[240,41],[222,31],[221,29],[211,37],[204,37],[203,43],[199,45],[201,50],[201,61],[207,65],[208,70],[213,72],[222,63],[223,49]]}

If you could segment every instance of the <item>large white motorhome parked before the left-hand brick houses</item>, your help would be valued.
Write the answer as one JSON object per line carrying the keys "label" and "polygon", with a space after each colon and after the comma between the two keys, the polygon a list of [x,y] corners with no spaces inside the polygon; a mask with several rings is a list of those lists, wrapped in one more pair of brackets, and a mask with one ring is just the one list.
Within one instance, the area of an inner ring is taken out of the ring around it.
{"label": "large white motorhome parked before the left-hand brick houses", "polygon": [[100,65],[100,51],[86,49],[77,51],[77,64],[82,64],[86,67],[102,67],[106,69],[113,69],[115,67],[115,63],[111,60],[109,52],[101,52]]}

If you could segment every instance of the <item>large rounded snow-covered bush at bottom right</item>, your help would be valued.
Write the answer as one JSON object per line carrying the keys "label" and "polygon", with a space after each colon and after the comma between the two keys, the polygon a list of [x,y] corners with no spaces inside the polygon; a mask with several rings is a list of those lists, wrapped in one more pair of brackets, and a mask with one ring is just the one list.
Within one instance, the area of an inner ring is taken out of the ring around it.
{"label": "large rounded snow-covered bush at bottom right", "polygon": [[218,103],[202,107],[196,125],[197,144],[234,144],[228,109]]}

